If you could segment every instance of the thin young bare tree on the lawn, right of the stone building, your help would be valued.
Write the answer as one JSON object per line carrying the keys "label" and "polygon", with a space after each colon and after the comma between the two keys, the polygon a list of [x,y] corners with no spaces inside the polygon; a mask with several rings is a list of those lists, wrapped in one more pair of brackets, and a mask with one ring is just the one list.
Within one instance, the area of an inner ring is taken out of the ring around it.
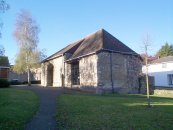
{"label": "thin young bare tree on the lawn, right of the stone building", "polygon": [[146,87],[147,87],[147,101],[148,101],[148,107],[151,107],[150,103],[150,86],[149,86],[149,80],[148,80],[148,47],[151,46],[151,37],[149,34],[146,34],[143,38],[143,46],[145,51],[145,75],[146,75]]}

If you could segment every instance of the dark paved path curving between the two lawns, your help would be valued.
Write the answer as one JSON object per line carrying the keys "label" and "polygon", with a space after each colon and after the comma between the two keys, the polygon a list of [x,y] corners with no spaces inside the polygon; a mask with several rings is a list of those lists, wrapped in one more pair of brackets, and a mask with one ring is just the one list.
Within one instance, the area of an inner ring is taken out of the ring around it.
{"label": "dark paved path curving between the two lawns", "polygon": [[31,122],[26,125],[25,130],[56,130],[56,97],[61,94],[61,88],[53,87],[25,87],[40,98],[40,107]]}

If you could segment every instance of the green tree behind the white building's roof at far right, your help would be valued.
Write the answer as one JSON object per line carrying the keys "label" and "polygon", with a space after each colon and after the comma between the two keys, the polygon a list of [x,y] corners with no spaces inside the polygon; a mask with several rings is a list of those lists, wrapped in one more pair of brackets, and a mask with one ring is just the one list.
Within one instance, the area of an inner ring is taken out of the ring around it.
{"label": "green tree behind the white building's roof at far right", "polygon": [[166,42],[156,55],[159,57],[173,56],[173,45]]}

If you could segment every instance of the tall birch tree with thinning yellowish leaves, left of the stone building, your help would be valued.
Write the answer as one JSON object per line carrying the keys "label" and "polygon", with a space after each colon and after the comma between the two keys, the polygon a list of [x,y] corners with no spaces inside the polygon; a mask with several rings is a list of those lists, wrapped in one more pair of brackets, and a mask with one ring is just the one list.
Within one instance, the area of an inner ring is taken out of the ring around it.
{"label": "tall birch tree with thinning yellowish leaves, left of the stone building", "polygon": [[42,52],[37,48],[39,27],[28,11],[21,10],[16,20],[14,37],[19,46],[14,71],[28,73],[28,85],[31,85],[31,70],[39,66]]}

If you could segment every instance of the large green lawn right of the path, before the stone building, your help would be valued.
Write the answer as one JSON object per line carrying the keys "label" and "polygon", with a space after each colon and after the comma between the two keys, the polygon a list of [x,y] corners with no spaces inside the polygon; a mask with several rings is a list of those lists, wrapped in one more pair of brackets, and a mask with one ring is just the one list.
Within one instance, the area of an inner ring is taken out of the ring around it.
{"label": "large green lawn right of the path, before the stone building", "polygon": [[173,98],[143,95],[63,94],[57,100],[58,128],[67,130],[173,130]]}

